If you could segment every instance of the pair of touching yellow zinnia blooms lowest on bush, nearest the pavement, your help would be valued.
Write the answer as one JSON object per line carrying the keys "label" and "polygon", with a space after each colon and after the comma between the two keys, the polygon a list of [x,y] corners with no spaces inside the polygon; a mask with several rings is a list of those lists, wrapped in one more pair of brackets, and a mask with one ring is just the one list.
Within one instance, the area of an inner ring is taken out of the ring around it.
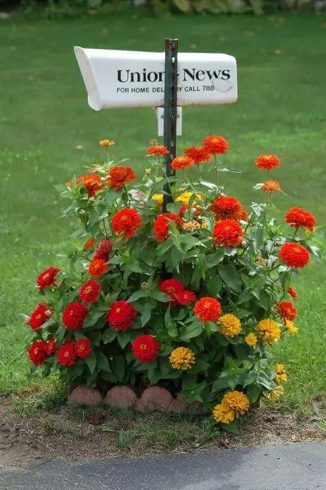
{"label": "pair of touching yellow zinnia blooms lowest on bush, nearest the pavement", "polygon": [[228,392],[224,395],[221,403],[215,405],[213,417],[217,422],[228,424],[248,412],[249,398],[246,394],[238,391]]}

